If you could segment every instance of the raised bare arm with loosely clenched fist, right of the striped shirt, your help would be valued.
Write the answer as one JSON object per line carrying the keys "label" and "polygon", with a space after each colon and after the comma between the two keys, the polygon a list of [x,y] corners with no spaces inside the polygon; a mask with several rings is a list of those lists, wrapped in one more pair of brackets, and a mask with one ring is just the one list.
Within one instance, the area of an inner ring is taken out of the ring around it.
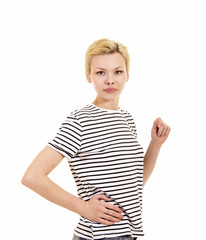
{"label": "raised bare arm with loosely clenched fist, right of the striped shirt", "polygon": [[161,118],[154,121],[151,131],[152,139],[144,157],[143,186],[152,174],[160,148],[169,136],[170,130],[171,128]]}

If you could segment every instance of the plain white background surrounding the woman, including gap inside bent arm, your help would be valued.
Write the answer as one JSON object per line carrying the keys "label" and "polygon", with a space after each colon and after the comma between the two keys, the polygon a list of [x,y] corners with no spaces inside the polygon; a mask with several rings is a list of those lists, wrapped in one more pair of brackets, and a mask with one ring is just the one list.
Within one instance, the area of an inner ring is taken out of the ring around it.
{"label": "plain white background surrounding the woman, including gap inside bent arm", "polygon": [[[130,52],[120,106],[144,149],[156,117],[172,128],[144,189],[144,239],[206,239],[205,12],[200,0],[0,2],[1,239],[72,238],[78,216],[21,178],[70,111],[94,100],[84,54],[103,37]],[[50,177],[76,194],[66,159]]]}

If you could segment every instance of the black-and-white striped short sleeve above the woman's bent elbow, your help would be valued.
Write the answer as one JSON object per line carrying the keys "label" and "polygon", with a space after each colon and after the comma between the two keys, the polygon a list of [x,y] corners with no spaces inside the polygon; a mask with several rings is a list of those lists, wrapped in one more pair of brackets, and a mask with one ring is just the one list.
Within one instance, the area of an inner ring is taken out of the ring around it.
{"label": "black-and-white striped short sleeve above the woman's bent elbow", "polygon": [[56,136],[48,146],[71,159],[81,147],[82,128],[79,120],[72,113],[62,123]]}

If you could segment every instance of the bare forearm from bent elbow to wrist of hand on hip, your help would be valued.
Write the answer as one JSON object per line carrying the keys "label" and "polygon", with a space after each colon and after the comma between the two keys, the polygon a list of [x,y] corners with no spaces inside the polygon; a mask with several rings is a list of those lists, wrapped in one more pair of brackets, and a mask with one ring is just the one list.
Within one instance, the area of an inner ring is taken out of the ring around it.
{"label": "bare forearm from bent elbow to wrist of hand on hip", "polygon": [[62,189],[48,176],[30,177],[23,179],[22,183],[50,202],[82,215],[85,202]]}

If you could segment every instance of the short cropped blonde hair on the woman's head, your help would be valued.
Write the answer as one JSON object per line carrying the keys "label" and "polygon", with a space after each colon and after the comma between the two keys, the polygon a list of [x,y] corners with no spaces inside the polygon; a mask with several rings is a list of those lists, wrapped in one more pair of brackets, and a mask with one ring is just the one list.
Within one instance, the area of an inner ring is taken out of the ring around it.
{"label": "short cropped blonde hair on the woman's head", "polygon": [[107,38],[99,39],[93,42],[87,49],[85,54],[85,71],[86,74],[91,73],[91,60],[96,55],[121,53],[126,64],[127,73],[129,73],[130,57],[127,47],[123,44],[109,40]]}

